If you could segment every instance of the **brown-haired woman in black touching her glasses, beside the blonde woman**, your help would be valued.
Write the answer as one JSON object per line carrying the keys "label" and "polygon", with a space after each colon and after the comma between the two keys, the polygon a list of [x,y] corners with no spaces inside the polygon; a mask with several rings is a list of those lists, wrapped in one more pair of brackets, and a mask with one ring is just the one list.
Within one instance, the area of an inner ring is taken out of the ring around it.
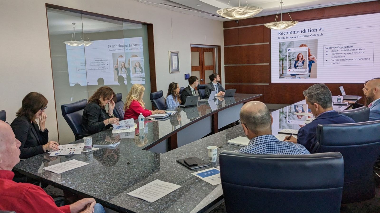
{"label": "brown-haired woman in black touching her glasses, beside the blonde woman", "polygon": [[[113,117],[116,95],[108,86],[102,86],[90,97],[82,116],[82,131],[95,134],[109,129],[111,124],[119,125],[119,119]],[[105,106],[108,105],[108,112]]]}

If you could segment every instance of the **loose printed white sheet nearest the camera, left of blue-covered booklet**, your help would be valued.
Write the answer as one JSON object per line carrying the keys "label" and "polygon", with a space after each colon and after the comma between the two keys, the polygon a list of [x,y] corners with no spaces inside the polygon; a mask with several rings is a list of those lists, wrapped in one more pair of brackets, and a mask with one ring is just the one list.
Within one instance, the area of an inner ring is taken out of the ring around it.
{"label": "loose printed white sheet nearest the camera, left of blue-covered booklet", "polygon": [[152,203],[180,187],[157,179],[127,194]]}

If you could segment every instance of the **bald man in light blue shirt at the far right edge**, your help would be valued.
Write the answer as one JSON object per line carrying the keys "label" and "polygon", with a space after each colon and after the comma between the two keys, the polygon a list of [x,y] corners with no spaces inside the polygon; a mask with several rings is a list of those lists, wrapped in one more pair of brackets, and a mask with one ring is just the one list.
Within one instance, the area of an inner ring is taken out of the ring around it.
{"label": "bald man in light blue shirt at the far right edge", "polygon": [[366,97],[370,104],[369,108],[369,120],[380,120],[380,79],[372,79],[366,83],[364,87],[366,90]]}

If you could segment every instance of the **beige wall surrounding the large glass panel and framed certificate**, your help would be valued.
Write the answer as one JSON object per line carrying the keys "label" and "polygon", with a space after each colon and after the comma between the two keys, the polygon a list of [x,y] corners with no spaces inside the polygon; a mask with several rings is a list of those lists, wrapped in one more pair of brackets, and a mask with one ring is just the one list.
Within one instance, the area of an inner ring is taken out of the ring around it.
{"label": "beige wall surrounding the large glass panel and framed certificate", "polygon": [[[11,122],[22,98],[31,91],[41,92],[49,100],[46,127],[51,140],[58,140],[56,116],[62,114],[55,113],[45,3],[152,23],[157,90],[164,93],[173,81],[187,86],[190,44],[222,46],[224,76],[222,22],[134,0],[0,0],[0,110],[6,110]],[[169,50],[179,51],[179,74],[169,74]]]}

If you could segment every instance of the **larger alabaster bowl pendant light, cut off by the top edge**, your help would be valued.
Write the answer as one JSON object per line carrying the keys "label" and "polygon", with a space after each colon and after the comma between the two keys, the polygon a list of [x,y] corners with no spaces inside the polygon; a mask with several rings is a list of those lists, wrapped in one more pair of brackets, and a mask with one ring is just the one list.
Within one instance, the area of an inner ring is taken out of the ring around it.
{"label": "larger alabaster bowl pendant light, cut off by the top edge", "polygon": [[263,10],[263,8],[261,7],[248,6],[247,0],[245,0],[245,3],[247,3],[247,6],[240,6],[240,0],[238,0],[239,6],[229,8],[228,5],[230,4],[230,1],[228,1],[226,8],[218,9],[216,11],[220,16],[223,16],[227,19],[233,19],[233,20],[248,19],[252,16],[255,16],[256,14],[260,13],[260,11]]}

